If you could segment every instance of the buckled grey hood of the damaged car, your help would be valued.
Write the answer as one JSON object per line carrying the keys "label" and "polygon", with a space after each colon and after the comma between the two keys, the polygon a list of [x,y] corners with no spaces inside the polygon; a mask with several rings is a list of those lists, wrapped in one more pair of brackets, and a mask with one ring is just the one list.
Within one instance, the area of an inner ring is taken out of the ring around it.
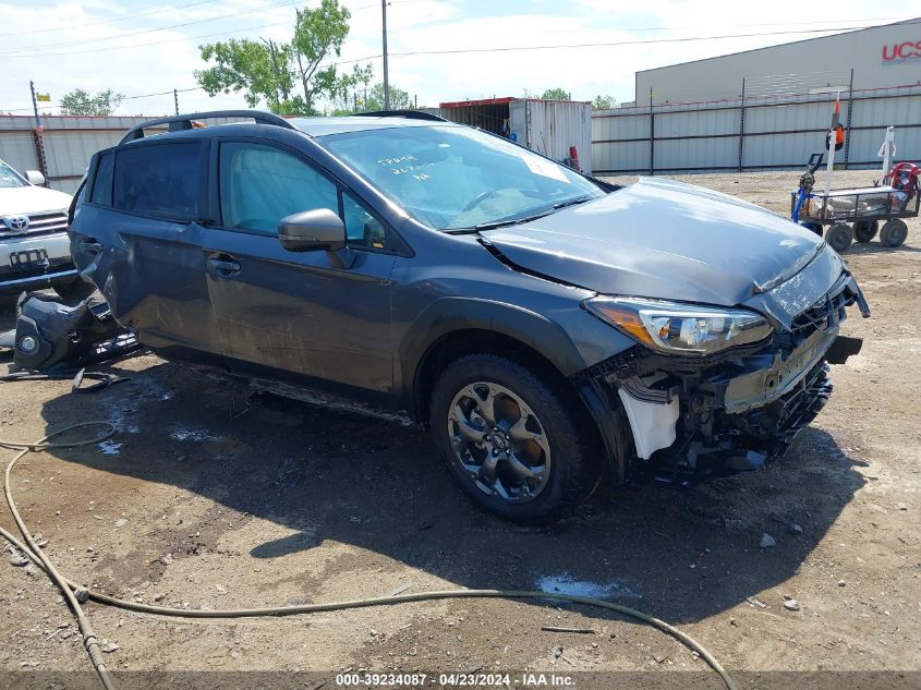
{"label": "buckled grey hood of the damaged car", "polygon": [[483,237],[525,270],[596,292],[722,306],[787,280],[823,245],[759,206],[656,178]]}

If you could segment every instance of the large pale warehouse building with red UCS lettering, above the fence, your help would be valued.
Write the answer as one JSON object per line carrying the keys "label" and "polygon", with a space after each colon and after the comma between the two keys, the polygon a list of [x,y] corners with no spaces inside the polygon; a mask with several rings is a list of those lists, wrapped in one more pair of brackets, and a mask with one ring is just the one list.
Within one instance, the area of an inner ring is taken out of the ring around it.
{"label": "large pale warehouse building with red UCS lettering, above the fence", "polygon": [[[853,70],[853,84],[850,84]],[[921,84],[921,17],[637,72],[637,106]]]}

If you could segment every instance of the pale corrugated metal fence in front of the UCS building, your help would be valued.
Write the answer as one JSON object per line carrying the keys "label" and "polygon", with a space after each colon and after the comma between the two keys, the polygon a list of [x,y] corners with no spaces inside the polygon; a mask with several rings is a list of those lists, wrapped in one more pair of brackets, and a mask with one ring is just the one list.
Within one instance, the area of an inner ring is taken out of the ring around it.
{"label": "pale corrugated metal fence in front of the UCS building", "polygon": [[[657,174],[797,169],[824,150],[835,93],[744,96],[728,100],[596,110],[595,174]],[[843,168],[875,168],[886,128],[896,158],[921,160],[921,85],[840,95]]]}

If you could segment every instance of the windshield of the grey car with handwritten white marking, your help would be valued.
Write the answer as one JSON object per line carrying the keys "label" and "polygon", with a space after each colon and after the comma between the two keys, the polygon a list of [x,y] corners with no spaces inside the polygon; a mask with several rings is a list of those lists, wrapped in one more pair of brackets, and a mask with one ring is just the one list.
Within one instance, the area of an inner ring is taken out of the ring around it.
{"label": "windshield of the grey car with handwritten white marking", "polygon": [[603,196],[569,168],[460,126],[374,129],[320,137],[416,220],[459,230]]}

